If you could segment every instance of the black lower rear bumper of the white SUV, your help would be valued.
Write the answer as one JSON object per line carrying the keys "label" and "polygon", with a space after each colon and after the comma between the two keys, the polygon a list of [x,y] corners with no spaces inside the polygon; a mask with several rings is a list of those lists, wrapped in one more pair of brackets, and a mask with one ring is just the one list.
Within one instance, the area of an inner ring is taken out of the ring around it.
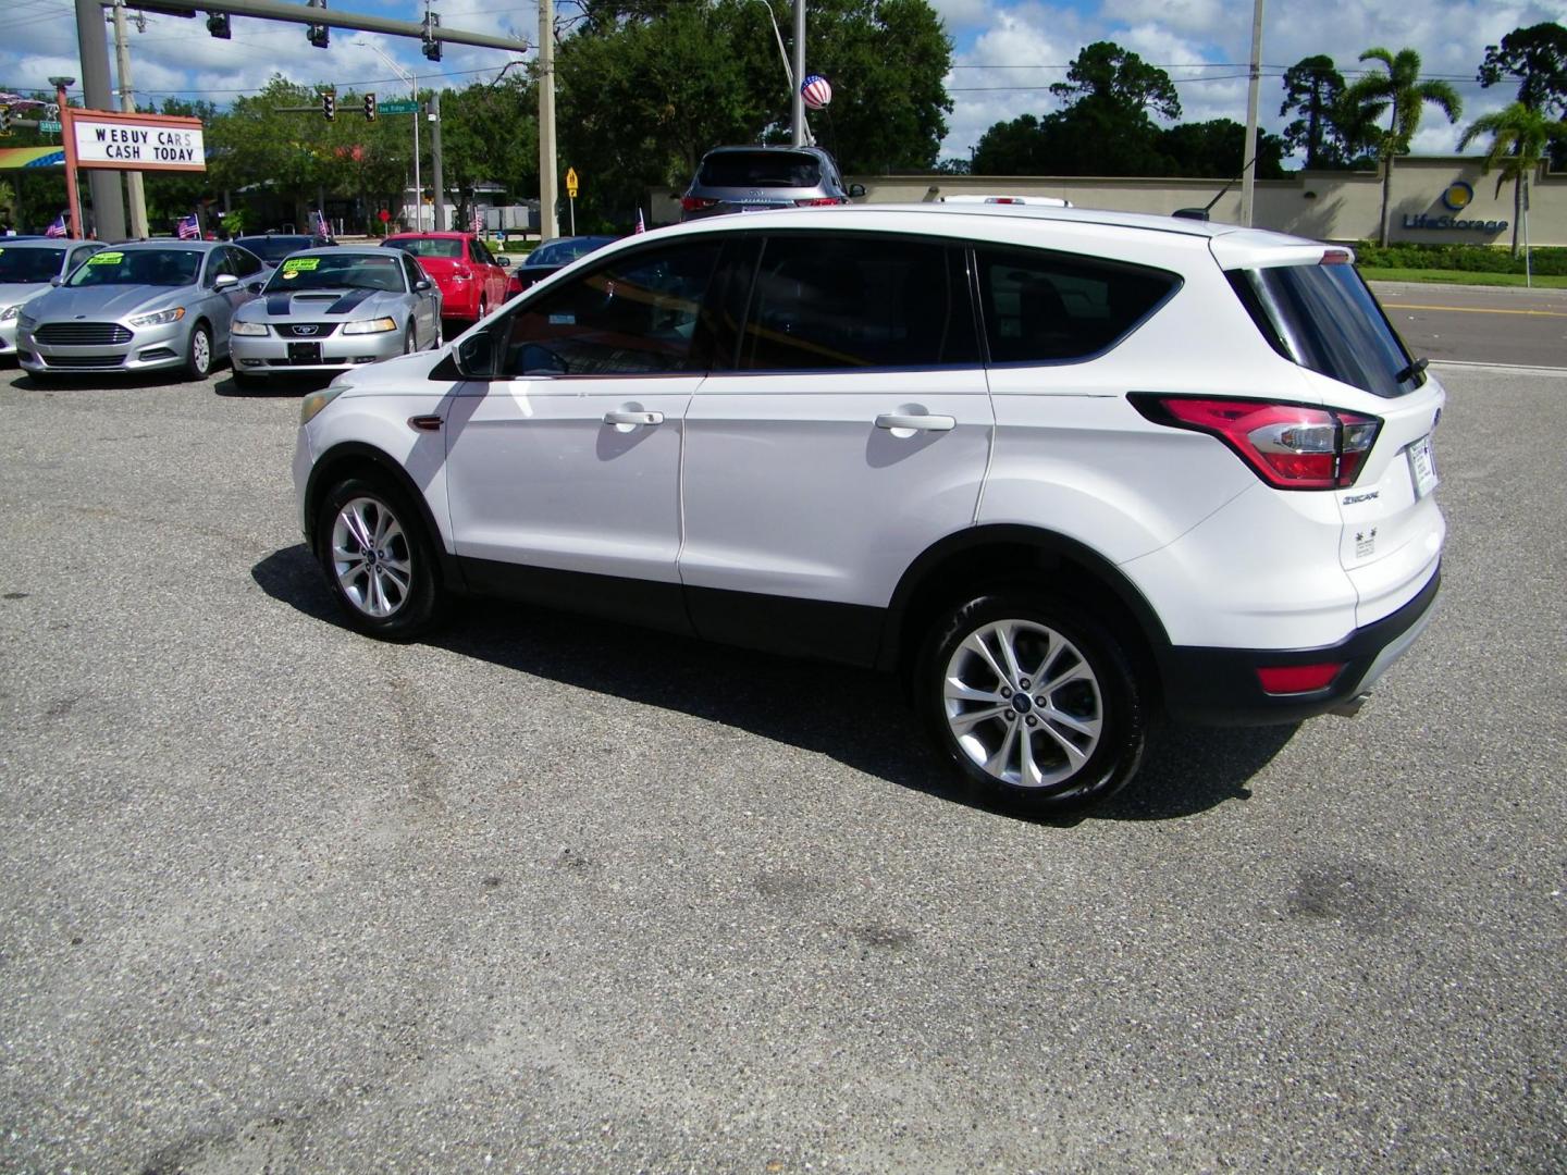
{"label": "black lower rear bumper of the white SUV", "polygon": [[[1160,656],[1166,711],[1180,722],[1203,725],[1271,725],[1326,714],[1363,694],[1415,642],[1431,620],[1442,583],[1440,569],[1396,613],[1357,628],[1343,641],[1318,649],[1197,649],[1175,645]],[[1341,661],[1324,689],[1269,694],[1260,667]]]}

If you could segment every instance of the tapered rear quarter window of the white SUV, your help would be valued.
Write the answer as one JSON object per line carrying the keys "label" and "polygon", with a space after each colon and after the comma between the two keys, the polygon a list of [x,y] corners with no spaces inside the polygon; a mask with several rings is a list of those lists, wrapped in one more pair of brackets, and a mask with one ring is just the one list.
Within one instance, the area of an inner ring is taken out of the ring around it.
{"label": "tapered rear quarter window of the white SUV", "polygon": [[1175,274],[1098,257],[976,246],[993,363],[1086,359],[1114,346],[1178,285]]}

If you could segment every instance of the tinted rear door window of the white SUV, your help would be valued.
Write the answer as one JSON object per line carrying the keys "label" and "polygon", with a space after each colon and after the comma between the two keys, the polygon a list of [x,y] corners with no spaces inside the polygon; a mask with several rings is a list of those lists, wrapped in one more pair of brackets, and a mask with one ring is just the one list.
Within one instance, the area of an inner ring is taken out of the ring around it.
{"label": "tinted rear door window of the white SUV", "polygon": [[768,238],[741,332],[741,370],[978,362],[959,246],[849,233]]}

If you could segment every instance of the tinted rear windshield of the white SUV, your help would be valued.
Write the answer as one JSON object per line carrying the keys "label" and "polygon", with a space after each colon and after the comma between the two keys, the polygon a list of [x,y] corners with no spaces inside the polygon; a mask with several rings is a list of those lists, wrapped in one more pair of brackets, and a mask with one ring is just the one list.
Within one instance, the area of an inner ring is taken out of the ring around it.
{"label": "tinted rear windshield of the white SUV", "polygon": [[1352,265],[1239,269],[1230,282],[1285,359],[1374,396],[1401,396],[1424,382]]}

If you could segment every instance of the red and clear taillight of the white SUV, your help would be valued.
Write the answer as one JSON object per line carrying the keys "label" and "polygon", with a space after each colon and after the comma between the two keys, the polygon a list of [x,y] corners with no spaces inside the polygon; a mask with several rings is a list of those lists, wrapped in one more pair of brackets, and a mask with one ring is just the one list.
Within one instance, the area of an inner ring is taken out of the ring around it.
{"label": "red and clear taillight of the white SUV", "polygon": [[1218,437],[1276,489],[1352,486],[1382,421],[1261,400],[1133,395],[1149,420]]}

